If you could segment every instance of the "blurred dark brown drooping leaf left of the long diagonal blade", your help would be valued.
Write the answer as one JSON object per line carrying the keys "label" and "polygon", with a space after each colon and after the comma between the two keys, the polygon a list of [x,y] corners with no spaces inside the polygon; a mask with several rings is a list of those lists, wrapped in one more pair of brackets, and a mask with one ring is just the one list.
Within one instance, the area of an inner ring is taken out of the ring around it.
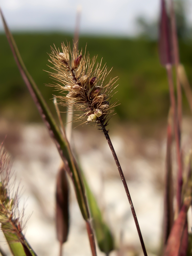
{"label": "blurred dark brown drooping leaf left of the long diagonal blade", "polygon": [[62,165],[57,175],[56,185],[56,232],[60,242],[60,255],[62,255],[62,244],[67,241],[69,232],[69,186],[65,167]]}

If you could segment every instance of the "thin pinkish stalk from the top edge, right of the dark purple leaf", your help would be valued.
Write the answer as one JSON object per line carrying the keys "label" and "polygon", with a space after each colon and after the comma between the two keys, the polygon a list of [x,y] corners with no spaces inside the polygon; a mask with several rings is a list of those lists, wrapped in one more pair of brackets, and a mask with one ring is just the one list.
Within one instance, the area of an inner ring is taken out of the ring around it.
{"label": "thin pinkish stalk from the top edge, right of the dark purple leaf", "polygon": [[170,18],[171,18],[171,32],[172,32],[172,44],[173,44],[173,55],[174,62],[176,67],[176,82],[177,82],[177,113],[178,113],[178,124],[179,124],[179,132],[182,128],[182,90],[179,81],[179,48],[178,48],[178,39],[177,39],[177,28],[176,28],[176,20],[175,20],[175,12],[173,6],[173,0],[170,0]]}

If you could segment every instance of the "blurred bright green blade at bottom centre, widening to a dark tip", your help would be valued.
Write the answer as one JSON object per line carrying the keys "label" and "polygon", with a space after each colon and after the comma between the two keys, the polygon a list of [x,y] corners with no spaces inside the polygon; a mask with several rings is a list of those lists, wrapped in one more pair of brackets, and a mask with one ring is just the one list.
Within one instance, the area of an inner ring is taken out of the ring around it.
{"label": "blurred bright green blade at bottom centre, widening to a dark tip", "polygon": [[114,250],[114,239],[112,233],[102,218],[101,211],[97,204],[97,201],[91,192],[86,178],[83,176],[83,182],[86,189],[86,195],[88,199],[90,214],[92,217],[92,223],[95,230],[98,246],[102,252],[109,255],[109,252]]}

